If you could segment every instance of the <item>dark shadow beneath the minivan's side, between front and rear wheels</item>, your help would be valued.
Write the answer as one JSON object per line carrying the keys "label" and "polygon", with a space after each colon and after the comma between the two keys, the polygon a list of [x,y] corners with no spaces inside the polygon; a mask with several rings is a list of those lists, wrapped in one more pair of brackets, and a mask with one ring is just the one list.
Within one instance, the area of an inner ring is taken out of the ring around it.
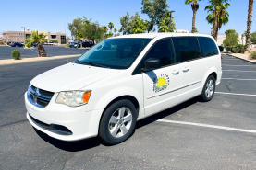
{"label": "dark shadow beneath the minivan's side, between front and rear wheels", "polygon": [[191,106],[197,102],[199,102],[198,97],[194,97],[184,103],[177,105],[176,107],[165,109],[164,111],[156,113],[156,114],[152,115],[151,117],[148,117],[146,119],[141,119],[140,121],[137,122],[136,129],[140,129],[143,126],[146,126],[146,125],[154,122],[153,120],[147,120],[147,119],[163,119],[169,115],[172,115],[173,113],[175,113],[179,110],[182,110],[183,108],[188,108],[189,106]]}

